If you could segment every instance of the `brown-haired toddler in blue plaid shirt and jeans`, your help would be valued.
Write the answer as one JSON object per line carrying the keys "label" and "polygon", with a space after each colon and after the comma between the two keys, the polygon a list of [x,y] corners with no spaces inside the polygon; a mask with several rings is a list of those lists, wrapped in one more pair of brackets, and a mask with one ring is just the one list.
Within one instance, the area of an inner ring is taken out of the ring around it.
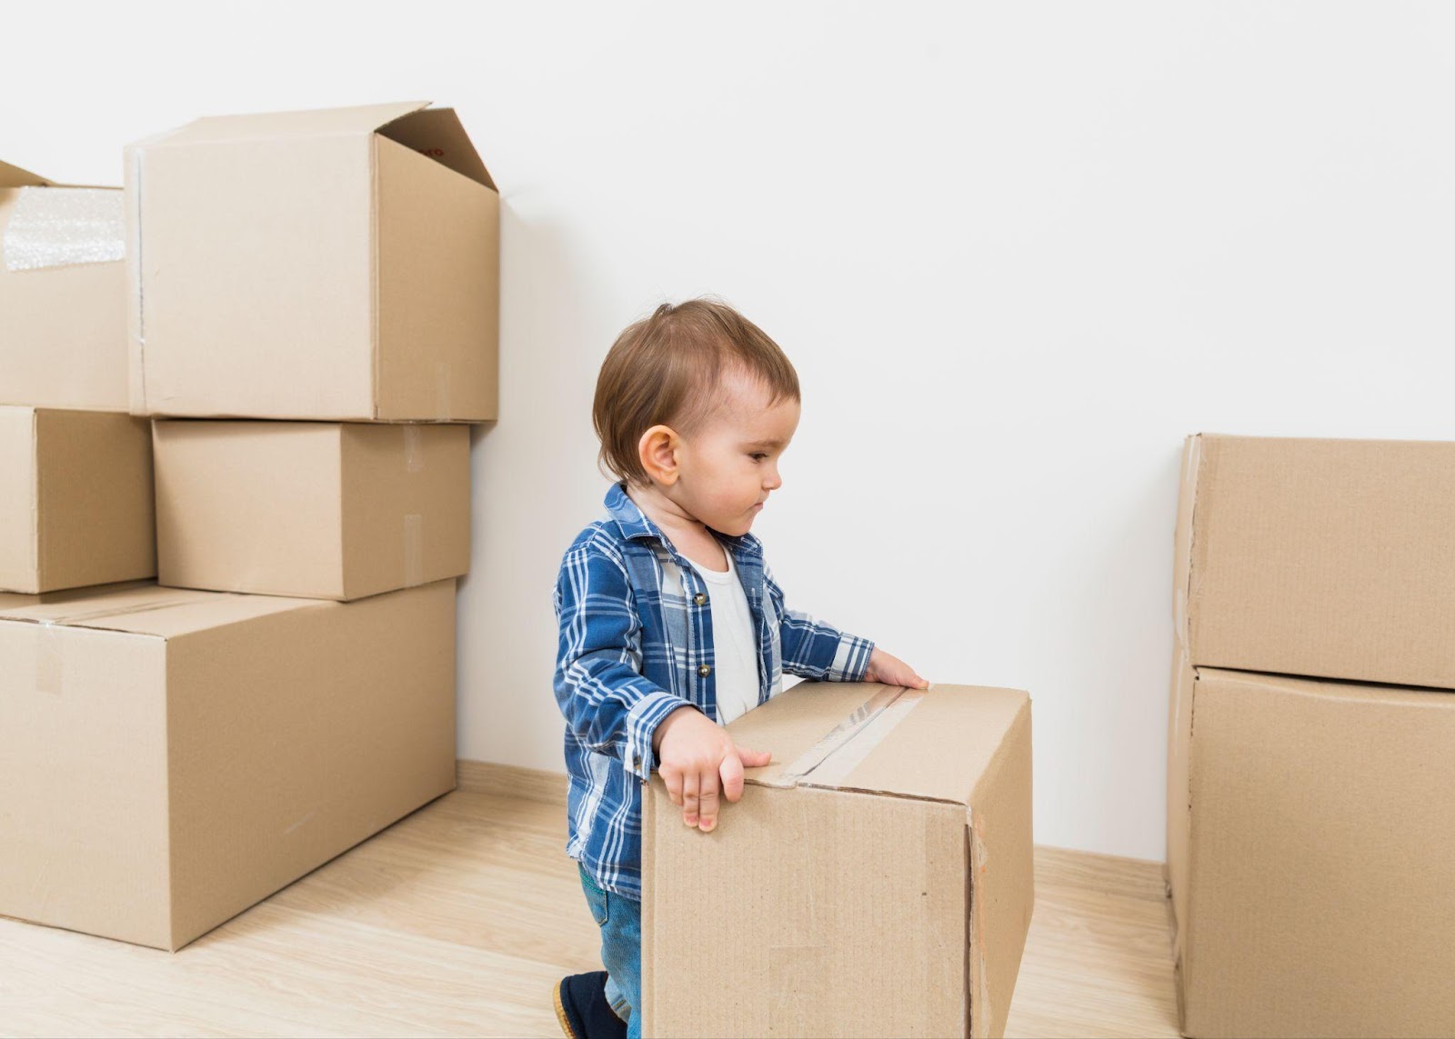
{"label": "brown-haired toddler in blue plaid shirt and jeans", "polygon": [[640,784],[653,770],[682,822],[707,832],[742,796],[744,768],[770,757],[723,726],[780,693],[783,672],[928,687],[867,639],[784,607],[749,531],[783,486],[799,378],[758,326],[710,300],[662,304],[611,346],[592,419],[620,482],[566,550],[554,595],[566,854],[605,966],[556,985],[573,1039],[642,1035]]}

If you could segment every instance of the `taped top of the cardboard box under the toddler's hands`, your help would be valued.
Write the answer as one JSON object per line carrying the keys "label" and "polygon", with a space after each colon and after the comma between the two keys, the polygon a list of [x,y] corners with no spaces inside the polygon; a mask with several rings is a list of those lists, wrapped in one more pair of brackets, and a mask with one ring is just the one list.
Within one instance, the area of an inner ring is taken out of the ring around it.
{"label": "taped top of the cardboard box under the toddler's hands", "polygon": [[774,755],[748,770],[749,783],[968,805],[1029,704],[1029,694],[1005,688],[803,682],[728,731]]}

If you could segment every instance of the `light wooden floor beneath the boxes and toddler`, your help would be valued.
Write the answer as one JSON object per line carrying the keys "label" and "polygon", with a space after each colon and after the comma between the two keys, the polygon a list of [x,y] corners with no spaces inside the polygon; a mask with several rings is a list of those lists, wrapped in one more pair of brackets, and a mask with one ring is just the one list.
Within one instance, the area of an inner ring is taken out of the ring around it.
{"label": "light wooden floor beneath the boxes and toddler", "polygon": [[[0,918],[0,1035],[559,1036],[598,933],[528,787],[441,797],[175,955]],[[1160,866],[1037,850],[1008,1035],[1177,1035]]]}

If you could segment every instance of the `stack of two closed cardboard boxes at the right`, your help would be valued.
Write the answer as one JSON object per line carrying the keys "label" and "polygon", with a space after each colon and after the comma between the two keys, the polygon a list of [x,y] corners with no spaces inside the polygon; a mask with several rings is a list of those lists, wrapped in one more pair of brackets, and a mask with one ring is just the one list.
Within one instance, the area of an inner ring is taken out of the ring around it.
{"label": "stack of two closed cardboard boxes at the right", "polygon": [[1187,439],[1167,879],[1187,1036],[1455,1035],[1455,444]]}

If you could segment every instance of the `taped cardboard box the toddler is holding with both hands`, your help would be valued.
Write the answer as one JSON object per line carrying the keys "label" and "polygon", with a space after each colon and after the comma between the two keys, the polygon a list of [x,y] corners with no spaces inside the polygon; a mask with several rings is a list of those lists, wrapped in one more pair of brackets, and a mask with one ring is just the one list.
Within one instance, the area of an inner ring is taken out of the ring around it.
{"label": "taped cardboard box the toddler is holding with both hands", "polygon": [[773,764],[711,834],[645,792],[646,1035],[1002,1035],[1035,901],[1030,697],[805,682],[728,731]]}

